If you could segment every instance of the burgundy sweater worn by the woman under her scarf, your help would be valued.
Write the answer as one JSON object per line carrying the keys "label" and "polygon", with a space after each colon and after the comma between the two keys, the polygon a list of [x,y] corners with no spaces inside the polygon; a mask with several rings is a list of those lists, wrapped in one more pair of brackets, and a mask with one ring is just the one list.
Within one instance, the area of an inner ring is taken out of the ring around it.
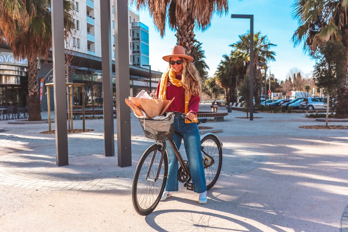
{"label": "burgundy sweater worn by the woman under her scarf", "polygon": [[[176,79],[181,80],[181,75],[177,75]],[[158,97],[159,93],[159,86],[160,83],[158,83],[157,90],[156,90],[156,96]],[[185,113],[185,92],[184,88],[181,87],[176,87],[172,84],[172,82],[168,78],[167,82],[167,90],[166,90],[166,97],[167,100],[172,100],[173,97],[175,97],[174,101],[172,104],[169,105],[168,111],[178,111],[181,113]],[[189,112],[193,112],[197,114],[198,107],[199,107],[199,96],[192,96],[190,99],[189,103]]]}

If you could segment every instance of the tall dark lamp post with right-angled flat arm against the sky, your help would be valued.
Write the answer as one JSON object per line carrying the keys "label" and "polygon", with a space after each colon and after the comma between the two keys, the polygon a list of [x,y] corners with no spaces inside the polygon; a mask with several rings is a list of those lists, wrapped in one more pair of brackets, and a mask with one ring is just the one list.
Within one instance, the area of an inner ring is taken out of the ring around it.
{"label": "tall dark lamp post with right-angled flat arm against the sky", "polygon": [[250,121],[254,120],[254,15],[231,15],[231,18],[250,19]]}

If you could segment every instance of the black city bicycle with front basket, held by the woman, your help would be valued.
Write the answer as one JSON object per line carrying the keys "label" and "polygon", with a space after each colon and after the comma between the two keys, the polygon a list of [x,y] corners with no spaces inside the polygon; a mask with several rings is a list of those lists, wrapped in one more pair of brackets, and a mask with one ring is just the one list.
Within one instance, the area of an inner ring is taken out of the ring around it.
{"label": "black city bicycle with front basket, held by the woman", "polygon": [[[155,139],[156,142],[149,146],[141,156],[135,169],[132,200],[135,211],[143,216],[149,215],[158,205],[163,194],[168,176],[168,156],[166,153],[166,141],[172,146],[175,155],[180,163],[178,180],[184,183],[187,190],[195,190],[191,181],[190,168],[187,160],[183,160],[177,149],[172,135],[183,137],[174,130],[174,113],[182,118],[185,114],[180,112],[168,113],[163,120],[140,119],[145,137]],[[187,118],[185,118],[187,119]],[[189,119],[188,119],[189,120]],[[207,119],[198,119],[199,123]],[[212,133],[206,133],[200,137],[201,152],[204,164],[207,190],[211,189],[219,178],[222,166],[222,143]]]}

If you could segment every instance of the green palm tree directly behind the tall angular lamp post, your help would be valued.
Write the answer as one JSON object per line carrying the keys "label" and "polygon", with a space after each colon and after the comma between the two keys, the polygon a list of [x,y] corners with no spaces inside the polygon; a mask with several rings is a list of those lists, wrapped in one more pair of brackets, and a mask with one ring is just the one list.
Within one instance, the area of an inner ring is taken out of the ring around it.
{"label": "green palm tree directly behind the tall angular lamp post", "polygon": [[[240,41],[231,44],[230,46],[234,49],[232,53],[238,59],[244,60],[247,72],[246,75],[249,75],[250,70],[250,33],[239,35]],[[270,48],[277,46],[267,38],[267,35],[262,36],[261,32],[254,33],[254,97],[255,104],[260,103],[259,96],[259,83],[262,82],[262,75],[260,69],[257,69],[257,63],[266,63],[267,61],[275,61],[274,56],[276,53],[271,51]]]}

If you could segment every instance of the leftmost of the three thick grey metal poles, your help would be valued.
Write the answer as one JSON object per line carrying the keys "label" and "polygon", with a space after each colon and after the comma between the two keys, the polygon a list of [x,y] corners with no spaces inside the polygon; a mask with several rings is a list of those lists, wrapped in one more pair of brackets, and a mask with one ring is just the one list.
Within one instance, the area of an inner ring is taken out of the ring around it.
{"label": "leftmost of the three thick grey metal poles", "polygon": [[[56,163],[68,165],[63,0],[51,0]],[[48,109],[50,110],[50,109]]]}

